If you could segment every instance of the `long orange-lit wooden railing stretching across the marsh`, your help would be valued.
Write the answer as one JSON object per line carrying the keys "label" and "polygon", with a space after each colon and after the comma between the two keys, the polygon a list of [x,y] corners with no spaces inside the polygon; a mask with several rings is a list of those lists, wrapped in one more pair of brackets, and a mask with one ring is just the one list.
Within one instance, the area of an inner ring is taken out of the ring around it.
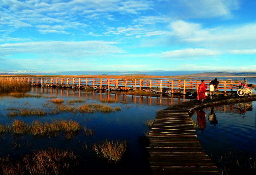
{"label": "long orange-lit wooden railing stretching across the marsh", "polygon": [[[84,78],[84,77],[7,77],[9,80],[26,82],[41,86],[60,86],[60,87],[97,87],[97,88],[119,88],[121,90],[157,90],[170,91],[171,93],[183,93],[196,91],[200,80],[190,79],[128,79],[128,78]],[[209,84],[211,80],[205,80]],[[232,92],[239,88],[238,81],[220,81],[217,91]]]}

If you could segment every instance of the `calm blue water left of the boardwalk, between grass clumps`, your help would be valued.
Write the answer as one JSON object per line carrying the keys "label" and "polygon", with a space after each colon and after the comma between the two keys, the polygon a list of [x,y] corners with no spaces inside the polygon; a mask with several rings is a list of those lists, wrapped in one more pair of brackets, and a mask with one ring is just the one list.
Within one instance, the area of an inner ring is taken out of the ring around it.
{"label": "calm blue water left of the boardwalk, between grass clumps", "polygon": [[[30,94],[41,94],[43,96],[54,96],[63,98],[64,104],[68,106],[79,106],[87,103],[101,103],[100,99],[112,98],[118,100],[117,103],[102,103],[112,107],[119,106],[121,111],[112,113],[73,113],[60,112],[50,114],[58,106],[50,100],[53,98],[15,98],[12,96],[0,96],[0,123],[11,125],[14,120],[22,120],[31,123],[33,120],[41,122],[51,122],[53,120],[78,121],[83,126],[95,130],[95,135],[86,136],[82,131],[74,138],[67,140],[65,135],[56,137],[33,137],[31,135],[13,136],[11,134],[2,135],[0,142],[0,156],[10,155],[11,158],[20,158],[21,154],[29,154],[32,150],[54,147],[59,149],[73,150],[79,155],[79,167],[86,172],[94,174],[143,174],[146,165],[146,157],[143,155],[144,144],[142,142],[148,127],[144,124],[146,120],[154,120],[156,112],[172,104],[186,101],[181,98],[167,97],[143,97],[134,95],[100,93],[97,91],[85,92],[64,88],[34,87]],[[84,103],[68,104],[67,100],[81,99]],[[8,113],[14,112],[8,108],[42,109],[46,116],[17,116],[10,118]],[[108,164],[108,161],[99,157],[92,151],[91,145],[94,142],[105,139],[126,140],[128,151],[123,161],[119,164]],[[83,149],[84,144],[87,149]]]}

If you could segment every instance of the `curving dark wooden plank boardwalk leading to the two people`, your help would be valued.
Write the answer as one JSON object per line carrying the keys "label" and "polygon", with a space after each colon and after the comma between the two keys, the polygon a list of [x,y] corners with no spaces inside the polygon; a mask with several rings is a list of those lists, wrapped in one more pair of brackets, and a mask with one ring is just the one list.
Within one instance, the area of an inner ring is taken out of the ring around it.
{"label": "curving dark wooden plank boardwalk leading to the two people", "polygon": [[[245,97],[255,100],[255,96]],[[197,108],[227,102],[227,98],[204,103],[196,100],[170,106],[157,113],[148,134],[148,158],[153,175],[215,175],[217,167],[204,153],[189,113]],[[233,99],[234,100],[234,99]],[[244,100],[236,98],[235,101]]]}

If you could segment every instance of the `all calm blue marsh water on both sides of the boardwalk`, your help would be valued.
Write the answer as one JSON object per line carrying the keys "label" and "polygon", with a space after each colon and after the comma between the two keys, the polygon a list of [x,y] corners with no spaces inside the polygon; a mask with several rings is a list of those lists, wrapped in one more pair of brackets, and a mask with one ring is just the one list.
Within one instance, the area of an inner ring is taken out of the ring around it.
{"label": "all calm blue marsh water on both sides of the boardwalk", "polygon": [[[249,82],[252,83],[252,82]],[[256,84],[256,83],[255,83]],[[93,128],[95,135],[86,136],[82,132],[74,135],[74,138],[67,140],[65,135],[56,137],[33,137],[31,135],[13,136],[2,135],[0,142],[0,156],[10,155],[11,158],[20,158],[21,154],[30,154],[32,150],[54,147],[69,149],[80,156],[79,168],[90,174],[143,174],[147,166],[147,157],[143,154],[144,143],[142,142],[148,127],[144,124],[146,120],[154,120],[156,112],[170,105],[174,105],[185,99],[182,96],[161,95],[158,97],[143,97],[134,95],[100,93],[99,91],[85,92],[75,91],[65,88],[33,87],[30,94],[41,94],[64,99],[64,104],[68,106],[79,106],[87,103],[101,103],[100,99],[112,98],[117,103],[104,103],[112,107],[119,106],[121,111],[113,113],[72,113],[60,112],[50,114],[58,105],[50,102],[52,98],[14,98],[12,96],[0,96],[0,123],[10,125],[14,120],[22,120],[31,123],[33,120],[41,122],[51,122],[53,120],[78,121],[83,126]],[[82,99],[84,103],[68,104],[67,100]],[[250,106],[250,105],[249,105]],[[197,129],[198,138],[203,149],[213,158],[218,157],[231,148],[250,151],[256,155],[255,151],[255,102],[245,111],[239,111],[239,106],[216,106],[209,114],[210,108],[203,109],[201,115],[205,113],[205,119],[199,121],[204,129]],[[42,109],[47,112],[46,116],[29,116],[15,118],[8,117],[8,113],[13,112],[8,108]],[[244,109],[244,108],[243,108]],[[198,112],[199,116],[199,112]],[[210,117],[209,117],[210,116]],[[192,116],[197,121],[196,114]],[[209,119],[208,119],[209,118]],[[211,120],[211,121],[210,121]],[[98,157],[92,152],[91,145],[94,142],[110,140],[126,140],[128,151],[124,159],[119,164],[109,164],[105,159]],[[83,149],[84,144],[87,149]]]}

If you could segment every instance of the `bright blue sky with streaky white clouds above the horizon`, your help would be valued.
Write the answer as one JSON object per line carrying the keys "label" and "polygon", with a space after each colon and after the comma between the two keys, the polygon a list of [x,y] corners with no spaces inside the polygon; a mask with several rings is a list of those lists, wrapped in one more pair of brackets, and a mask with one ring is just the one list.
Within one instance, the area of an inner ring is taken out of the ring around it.
{"label": "bright blue sky with streaky white clouds above the horizon", "polygon": [[255,0],[0,0],[0,73],[256,72]]}

